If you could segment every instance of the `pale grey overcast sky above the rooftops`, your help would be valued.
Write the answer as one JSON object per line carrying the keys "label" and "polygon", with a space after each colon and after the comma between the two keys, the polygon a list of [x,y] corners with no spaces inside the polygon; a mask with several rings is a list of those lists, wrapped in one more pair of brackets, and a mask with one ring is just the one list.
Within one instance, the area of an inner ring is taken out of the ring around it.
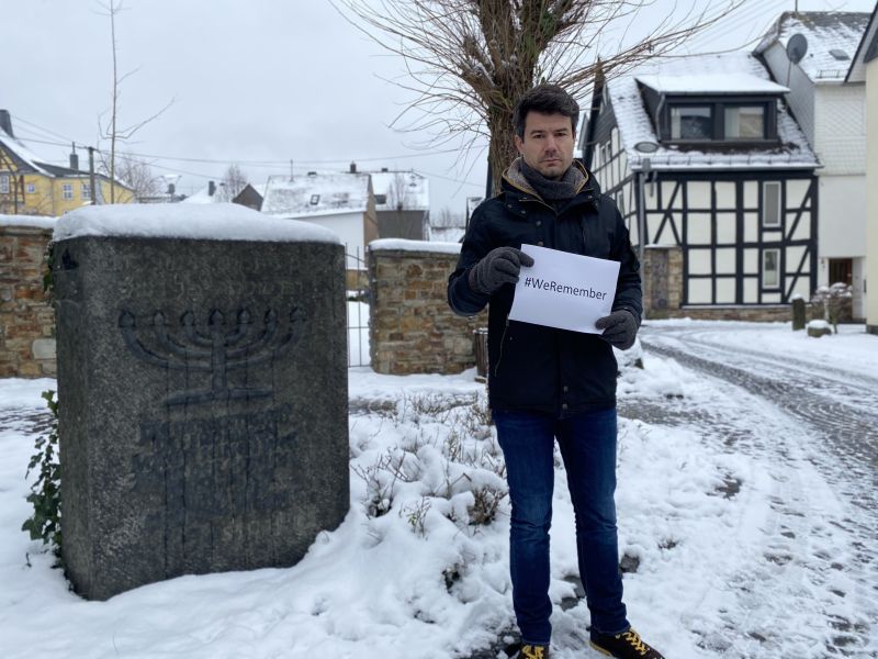
{"label": "pale grey overcast sky above the rooftops", "polygon": [[[703,5],[710,0],[688,0]],[[714,0],[719,3],[719,0]],[[654,0],[638,27],[685,0]],[[795,0],[751,0],[687,49],[738,47]],[[125,0],[116,19],[123,82],[120,123],[170,108],[122,148],[148,156],[156,175],[180,174],[194,192],[237,163],[254,182],[312,169],[410,169],[430,179],[431,208],[463,212],[484,192],[484,155],[461,161],[449,145],[424,150],[425,134],[389,124],[410,93],[386,82],[398,58],[349,25],[327,0]],[[800,10],[867,11],[875,0],[800,0]],[[77,142],[99,145],[110,108],[109,18],[95,0],[0,0],[0,109],[15,136],[49,163]],[[106,146],[106,142],[101,142]],[[185,160],[188,158],[190,160]],[[199,161],[204,160],[204,161]],[[85,163],[85,154],[80,163]]]}

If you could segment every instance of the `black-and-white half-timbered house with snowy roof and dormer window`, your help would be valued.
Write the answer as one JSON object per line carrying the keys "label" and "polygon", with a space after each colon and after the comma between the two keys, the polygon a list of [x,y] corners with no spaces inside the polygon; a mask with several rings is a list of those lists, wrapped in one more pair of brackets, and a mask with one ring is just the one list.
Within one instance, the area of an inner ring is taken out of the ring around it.
{"label": "black-and-white half-timbered house with snowy roof and dormer window", "polygon": [[595,81],[581,132],[644,263],[648,314],[768,319],[817,282],[817,157],[745,53]]}

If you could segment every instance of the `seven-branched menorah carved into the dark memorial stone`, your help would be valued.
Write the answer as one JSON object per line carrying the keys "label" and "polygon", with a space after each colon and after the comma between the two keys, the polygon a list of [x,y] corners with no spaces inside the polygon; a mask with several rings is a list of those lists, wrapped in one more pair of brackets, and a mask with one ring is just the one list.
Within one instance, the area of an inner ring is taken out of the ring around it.
{"label": "seven-branched menorah carved into the dark memorial stone", "polygon": [[[165,369],[211,373],[209,390],[182,391],[166,399],[168,405],[182,405],[270,396],[271,389],[229,387],[228,373],[280,356],[302,336],[305,314],[300,308],[293,306],[286,331],[279,333],[278,313],[269,309],[258,335],[255,334],[255,323],[248,309],[238,311],[237,320],[230,327],[222,311],[211,311],[206,332],[195,326],[192,311],[180,316],[181,331],[176,335],[160,311],[155,312],[151,320],[147,330],[138,328],[135,314],[127,310],[123,310],[119,316],[122,337],[137,358]],[[151,336],[147,339],[148,334]]]}

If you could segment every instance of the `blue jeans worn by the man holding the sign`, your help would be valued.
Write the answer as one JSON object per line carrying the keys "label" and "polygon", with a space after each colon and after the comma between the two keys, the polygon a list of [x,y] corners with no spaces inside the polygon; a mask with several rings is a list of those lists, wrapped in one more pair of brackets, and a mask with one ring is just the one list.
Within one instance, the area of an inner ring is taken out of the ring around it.
{"label": "blue jeans worn by the man holding the sign", "polygon": [[494,412],[506,458],[513,517],[509,570],[513,605],[522,643],[549,645],[549,528],[552,525],[554,442],[567,471],[576,517],[579,577],[592,627],[628,629],[616,530],[616,409],[558,417],[534,412]]}

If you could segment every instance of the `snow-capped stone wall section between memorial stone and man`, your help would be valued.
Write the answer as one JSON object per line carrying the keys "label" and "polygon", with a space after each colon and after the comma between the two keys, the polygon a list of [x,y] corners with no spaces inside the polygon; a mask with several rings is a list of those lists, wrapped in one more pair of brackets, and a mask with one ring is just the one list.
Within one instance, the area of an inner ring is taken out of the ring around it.
{"label": "snow-capped stone wall section between memorial stone and man", "polygon": [[473,332],[487,325],[487,314],[465,319],[448,306],[448,276],[459,253],[457,243],[387,239],[369,246],[375,372],[455,373],[475,366]]}

